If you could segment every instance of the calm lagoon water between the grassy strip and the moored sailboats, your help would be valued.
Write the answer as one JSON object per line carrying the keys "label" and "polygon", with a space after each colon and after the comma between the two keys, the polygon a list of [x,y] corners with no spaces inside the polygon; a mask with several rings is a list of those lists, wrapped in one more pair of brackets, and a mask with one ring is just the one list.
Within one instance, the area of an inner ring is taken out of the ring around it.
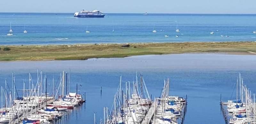
{"label": "calm lagoon water between the grassy strip and the moored sailboats", "polygon": [[[28,88],[28,73],[36,80],[36,69],[43,70],[48,80],[55,81],[62,70],[71,70],[70,91],[86,92],[86,104],[79,111],[72,112],[69,119],[59,123],[92,124],[93,113],[97,123],[103,118],[103,107],[112,106],[120,75],[122,82],[135,80],[136,71],[142,73],[149,94],[158,97],[164,79],[170,78],[170,94],[188,95],[185,124],[224,124],[220,111],[222,99],[235,99],[235,84],[238,72],[244,83],[256,91],[256,57],[253,55],[179,54],[144,55],[125,58],[100,58],[77,61],[0,62],[0,84],[7,78],[11,84],[11,72],[15,72],[17,89],[22,89],[23,79]],[[51,82],[51,81],[49,81]],[[102,86],[102,95],[100,95]],[[49,83],[48,91],[52,91]],[[233,95],[232,92],[234,91]],[[22,95],[20,92],[19,95]]]}

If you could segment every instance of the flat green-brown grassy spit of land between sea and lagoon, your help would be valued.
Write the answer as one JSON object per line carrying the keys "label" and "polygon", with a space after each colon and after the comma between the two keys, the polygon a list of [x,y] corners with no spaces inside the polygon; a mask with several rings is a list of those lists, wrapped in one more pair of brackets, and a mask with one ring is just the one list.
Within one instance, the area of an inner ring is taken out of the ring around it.
{"label": "flat green-brown grassy spit of land between sea and lagoon", "polygon": [[[183,42],[0,46],[0,61],[85,60],[89,58],[126,57],[179,53],[220,52],[256,55],[256,42]],[[11,50],[3,51],[4,47]]]}

